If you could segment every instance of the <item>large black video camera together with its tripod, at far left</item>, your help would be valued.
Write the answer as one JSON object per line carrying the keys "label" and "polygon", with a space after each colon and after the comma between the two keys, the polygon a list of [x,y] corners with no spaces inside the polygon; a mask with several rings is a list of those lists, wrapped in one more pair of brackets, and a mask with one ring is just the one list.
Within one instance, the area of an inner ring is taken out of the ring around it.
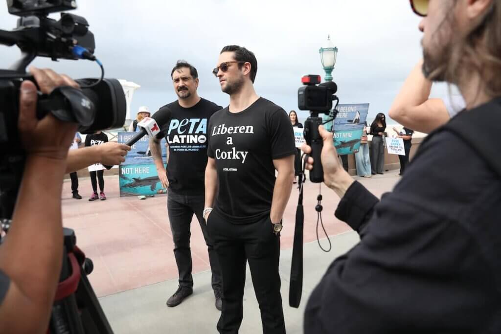
{"label": "large black video camera together with its tripod, at far left", "polygon": [[[39,119],[51,113],[61,121],[79,124],[78,130],[89,134],[121,127],[126,113],[125,95],[118,80],[103,79],[104,68],[94,56],[94,35],[87,20],[68,13],[62,13],[59,21],[47,17],[50,13],[76,9],[75,0],[7,0],[7,6],[9,13],[20,18],[15,30],[0,30],[0,44],[17,45],[22,56],[9,69],[0,70],[0,222],[6,232],[26,160],[18,131],[19,89],[24,80],[36,84],[26,68],[37,56],[54,61],[87,59],[96,61],[101,68],[100,79],[76,80],[81,89],[58,87],[49,95],[39,92]],[[30,241],[26,240],[27,244]],[[63,267],[48,332],[112,333],[87,278],[92,261],[76,246],[73,230],[64,228],[64,244]]]}

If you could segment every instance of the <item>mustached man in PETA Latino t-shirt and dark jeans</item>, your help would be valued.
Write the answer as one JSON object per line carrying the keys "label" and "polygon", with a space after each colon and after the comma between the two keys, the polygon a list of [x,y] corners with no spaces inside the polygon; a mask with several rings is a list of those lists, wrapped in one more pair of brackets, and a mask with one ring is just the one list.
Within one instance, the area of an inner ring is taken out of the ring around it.
{"label": "mustached man in PETA Latino t-shirt and dark jeans", "polygon": [[[172,69],[171,77],[178,99],[157,111],[157,113],[169,112],[172,116],[158,136],[150,140],[151,155],[155,161],[158,177],[162,185],[169,189],[167,213],[179,272],[179,287],[167,300],[167,306],[177,306],[193,293],[190,224],[195,214],[207,244],[215,306],[220,310],[221,274],[217,256],[202,218],[202,211],[204,171],[207,164],[207,122],[221,107],[198,96],[196,92],[198,74],[190,64],[178,61]],[[162,162],[160,147],[160,140],[163,137],[169,147],[167,169]]]}

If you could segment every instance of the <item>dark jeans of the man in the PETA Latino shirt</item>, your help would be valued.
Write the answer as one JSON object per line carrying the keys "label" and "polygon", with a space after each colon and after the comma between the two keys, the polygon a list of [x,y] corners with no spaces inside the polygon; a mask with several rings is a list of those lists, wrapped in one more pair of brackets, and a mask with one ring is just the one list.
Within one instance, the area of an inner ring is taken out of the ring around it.
{"label": "dark jeans of the man in the PETA Latino shirt", "polygon": [[179,285],[193,287],[193,267],[190,249],[190,225],[193,214],[196,215],[203,238],[209,253],[210,269],[212,270],[212,288],[221,288],[221,269],[214,251],[213,244],[207,233],[205,220],[202,217],[204,195],[181,195],[169,189],[167,195],[167,213],[169,215],[170,229],[174,239],[174,257],[176,258],[177,271],[179,272]]}

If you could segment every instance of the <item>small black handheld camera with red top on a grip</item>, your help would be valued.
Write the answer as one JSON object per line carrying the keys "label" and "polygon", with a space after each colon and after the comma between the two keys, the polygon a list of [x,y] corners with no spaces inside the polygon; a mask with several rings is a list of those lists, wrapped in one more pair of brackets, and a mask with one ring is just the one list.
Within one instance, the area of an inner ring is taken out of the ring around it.
{"label": "small black handheld camera with red top on a grip", "polygon": [[324,123],[322,118],[319,117],[319,113],[330,115],[334,119],[337,111],[336,108],[332,108],[332,101],[339,103],[339,99],[335,95],[338,90],[336,83],[328,81],[320,84],[320,80],[319,75],[304,76],[301,82],[305,86],[298,90],[299,109],[310,111],[310,117],[305,122],[304,137],[306,143],[312,148],[310,155],[316,162],[310,172],[310,181],[315,183],[324,181],[324,169],[320,163],[320,153],[324,142],[318,132],[319,125]]}

